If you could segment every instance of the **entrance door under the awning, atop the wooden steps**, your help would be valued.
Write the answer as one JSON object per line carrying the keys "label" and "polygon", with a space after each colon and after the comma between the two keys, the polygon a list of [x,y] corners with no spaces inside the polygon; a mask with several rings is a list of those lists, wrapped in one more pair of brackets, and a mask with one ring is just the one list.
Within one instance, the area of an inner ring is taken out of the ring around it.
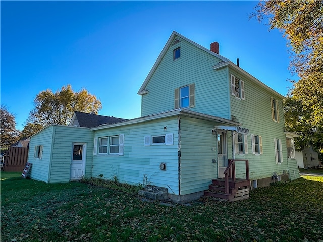
{"label": "entrance door under the awning, atop the wooden steps", "polygon": [[224,171],[228,166],[227,157],[227,132],[218,131],[218,178],[224,177]]}

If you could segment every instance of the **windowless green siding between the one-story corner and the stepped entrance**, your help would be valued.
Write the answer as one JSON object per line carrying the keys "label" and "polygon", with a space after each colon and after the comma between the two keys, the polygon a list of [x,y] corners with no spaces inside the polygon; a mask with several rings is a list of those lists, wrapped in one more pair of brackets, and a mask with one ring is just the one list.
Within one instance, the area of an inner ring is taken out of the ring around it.
{"label": "windowless green siding between the one-story corner and the stepped entrance", "polygon": [[218,176],[217,139],[212,135],[214,123],[181,117],[181,195],[207,189],[211,179]]}

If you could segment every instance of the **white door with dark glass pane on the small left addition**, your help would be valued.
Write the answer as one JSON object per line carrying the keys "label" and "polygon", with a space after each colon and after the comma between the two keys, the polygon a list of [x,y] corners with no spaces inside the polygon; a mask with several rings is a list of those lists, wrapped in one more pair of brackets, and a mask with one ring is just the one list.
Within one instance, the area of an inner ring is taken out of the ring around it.
{"label": "white door with dark glass pane on the small left addition", "polygon": [[71,180],[79,180],[85,175],[86,144],[74,143],[71,161]]}

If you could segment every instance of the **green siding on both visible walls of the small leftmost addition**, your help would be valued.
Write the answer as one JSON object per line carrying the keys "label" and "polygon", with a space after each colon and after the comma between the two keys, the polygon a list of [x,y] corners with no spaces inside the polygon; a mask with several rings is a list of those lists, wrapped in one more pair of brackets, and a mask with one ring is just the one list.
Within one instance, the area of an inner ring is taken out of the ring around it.
{"label": "green siding on both visible walls of the small leftmost addition", "polygon": [[[46,183],[70,180],[73,142],[87,144],[85,176],[91,176],[93,132],[88,128],[50,125],[30,139],[28,162],[33,163],[30,177]],[[41,159],[34,158],[35,146],[42,145]]]}

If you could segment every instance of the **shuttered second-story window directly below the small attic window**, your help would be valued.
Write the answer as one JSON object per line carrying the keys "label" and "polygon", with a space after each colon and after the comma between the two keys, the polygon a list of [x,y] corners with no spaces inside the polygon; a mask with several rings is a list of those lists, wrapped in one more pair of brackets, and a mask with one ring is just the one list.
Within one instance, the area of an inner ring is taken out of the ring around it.
{"label": "shuttered second-story window directly below the small attic window", "polygon": [[175,109],[195,107],[195,85],[190,84],[175,89]]}

